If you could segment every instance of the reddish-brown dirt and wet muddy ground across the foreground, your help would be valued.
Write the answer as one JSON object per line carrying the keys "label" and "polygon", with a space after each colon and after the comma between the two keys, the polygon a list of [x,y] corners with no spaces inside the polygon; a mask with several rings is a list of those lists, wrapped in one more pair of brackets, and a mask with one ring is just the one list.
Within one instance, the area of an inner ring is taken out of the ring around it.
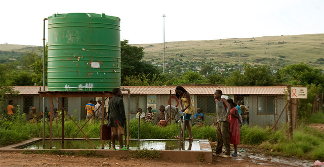
{"label": "reddish-brown dirt and wet muddy ground across the foreground", "polygon": [[[324,131],[324,124],[312,127]],[[215,149],[217,142],[210,142]],[[314,161],[296,157],[264,155],[263,150],[253,146],[238,145],[237,157],[213,156],[212,163],[171,161],[165,159],[146,160],[127,157],[85,157],[50,154],[23,154],[0,151],[0,166],[313,166]]]}

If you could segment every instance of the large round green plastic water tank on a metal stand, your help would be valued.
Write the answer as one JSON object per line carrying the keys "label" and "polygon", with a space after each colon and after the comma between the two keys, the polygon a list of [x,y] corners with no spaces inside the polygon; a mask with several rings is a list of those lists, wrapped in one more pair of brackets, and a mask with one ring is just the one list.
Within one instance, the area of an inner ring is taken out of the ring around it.
{"label": "large round green plastic water tank on a metal stand", "polygon": [[94,13],[48,18],[49,91],[120,87],[120,19]]}

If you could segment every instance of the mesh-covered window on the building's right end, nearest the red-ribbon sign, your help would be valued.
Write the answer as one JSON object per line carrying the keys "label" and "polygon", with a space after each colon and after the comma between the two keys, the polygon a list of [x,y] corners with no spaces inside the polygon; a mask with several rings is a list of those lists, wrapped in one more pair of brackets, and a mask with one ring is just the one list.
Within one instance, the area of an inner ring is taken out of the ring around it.
{"label": "mesh-covered window on the building's right end, nearest the red-ribbon sign", "polygon": [[274,114],[273,100],[275,96],[258,96],[257,114]]}

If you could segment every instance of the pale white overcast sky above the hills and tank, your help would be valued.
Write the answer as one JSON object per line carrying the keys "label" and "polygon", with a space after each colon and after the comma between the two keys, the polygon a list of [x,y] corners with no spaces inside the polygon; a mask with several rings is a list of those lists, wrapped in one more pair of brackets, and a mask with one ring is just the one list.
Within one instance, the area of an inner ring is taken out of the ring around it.
{"label": "pale white overcast sky above the hills and tank", "polygon": [[163,43],[164,14],[166,42],[324,33],[324,0],[12,0],[1,1],[0,44],[42,46],[54,13],[119,17],[130,44]]}

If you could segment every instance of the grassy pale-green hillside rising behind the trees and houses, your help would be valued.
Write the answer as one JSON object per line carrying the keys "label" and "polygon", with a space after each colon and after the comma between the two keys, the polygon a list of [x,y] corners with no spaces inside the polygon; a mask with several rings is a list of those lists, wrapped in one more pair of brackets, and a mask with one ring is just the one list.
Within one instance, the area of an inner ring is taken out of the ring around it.
{"label": "grassy pale-green hillside rising behind the trees and houses", "polygon": [[[144,47],[144,61],[163,63],[163,43],[131,45]],[[324,34],[178,41],[166,42],[165,46],[166,63],[180,60],[238,65],[240,59],[241,64],[268,65],[274,68],[304,62],[324,70],[324,61],[317,61],[324,58]],[[2,63],[3,59],[19,58],[27,50],[37,50],[37,47],[41,46],[0,44]]]}

